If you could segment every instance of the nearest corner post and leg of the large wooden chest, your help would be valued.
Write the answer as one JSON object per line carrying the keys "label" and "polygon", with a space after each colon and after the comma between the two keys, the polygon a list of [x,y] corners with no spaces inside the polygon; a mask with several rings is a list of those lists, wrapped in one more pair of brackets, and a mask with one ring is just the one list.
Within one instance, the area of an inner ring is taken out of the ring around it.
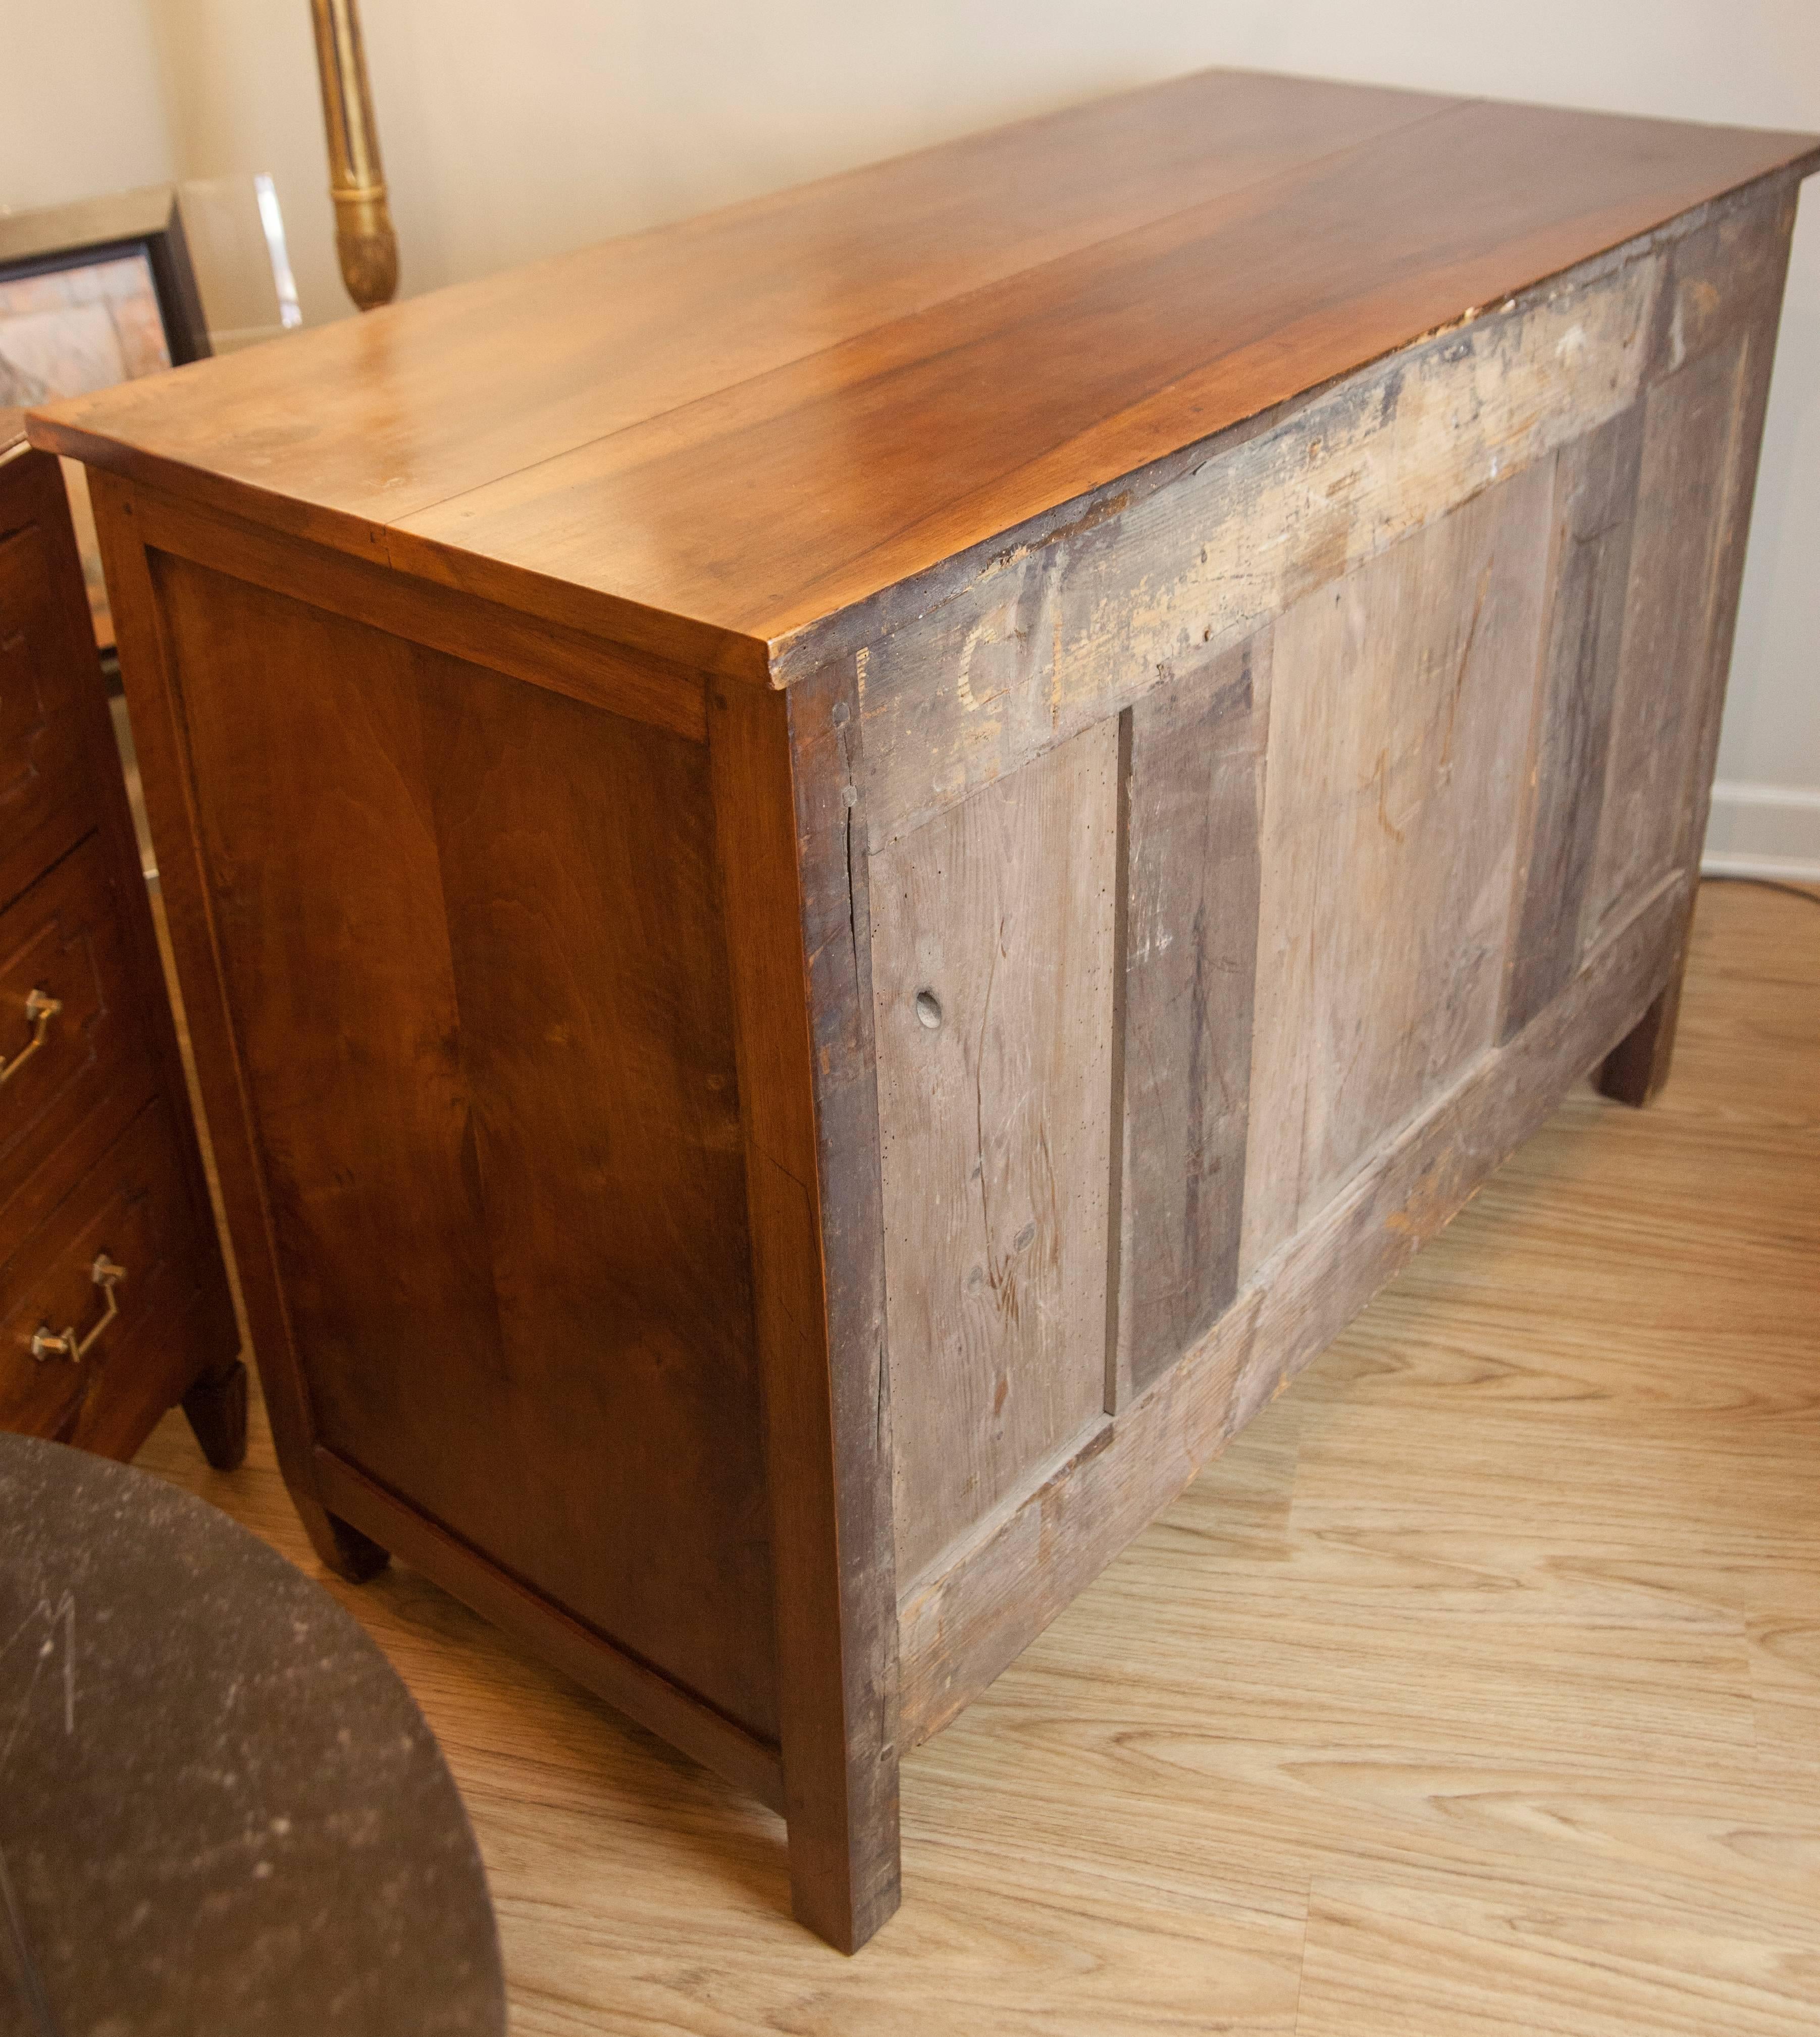
{"label": "nearest corner post and leg of the large wooden chest", "polygon": [[[791,719],[777,693],[724,680],[709,693],[764,1381],[791,1892],[801,1923],[856,1951],[899,1901],[897,1752],[887,1729],[897,1711],[897,1595],[878,1499],[889,1434],[876,1304],[864,1267],[854,1273],[836,1210],[862,1190],[823,1171],[866,1108],[852,1082],[860,1043],[848,1039],[842,1053],[840,1018],[825,1016],[829,890],[846,894],[829,862],[838,858],[844,872],[848,780],[827,772],[825,758],[815,782],[807,782],[813,756],[793,770]],[[834,839],[829,805],[842,815]],[[834,937],[856,955],[852,921],[838,917]],[[842,974],[850,1010],[858,974]]]}

